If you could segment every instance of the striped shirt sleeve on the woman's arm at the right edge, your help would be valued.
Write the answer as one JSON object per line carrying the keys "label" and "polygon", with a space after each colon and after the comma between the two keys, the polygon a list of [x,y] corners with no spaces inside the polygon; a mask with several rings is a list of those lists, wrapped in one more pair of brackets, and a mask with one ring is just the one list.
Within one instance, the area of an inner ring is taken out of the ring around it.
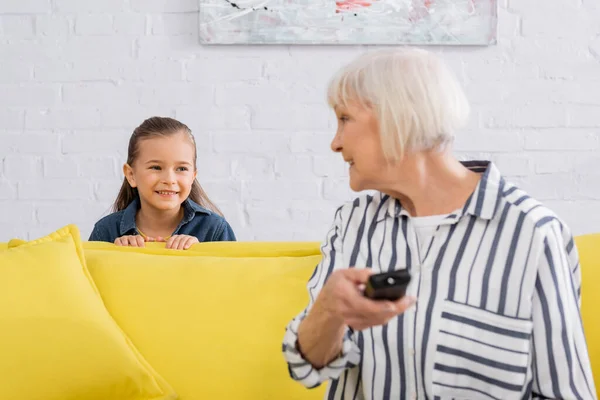
{"label": "striped shirt sleeve on the woman's arm at the right edge", "polygon": [[577,248],[564,225],[549,225],[533,296],[533,398],[597,399],[580,314]]}

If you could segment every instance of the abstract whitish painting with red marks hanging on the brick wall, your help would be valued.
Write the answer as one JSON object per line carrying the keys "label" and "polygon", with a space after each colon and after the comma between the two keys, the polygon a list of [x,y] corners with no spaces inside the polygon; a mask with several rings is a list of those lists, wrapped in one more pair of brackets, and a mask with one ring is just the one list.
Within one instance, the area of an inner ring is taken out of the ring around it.
{"label": "abstract whitish painting with red marks hanging on the brick wall", "polygon": [[497,0],[199,0],[213,44],[496,43]]}

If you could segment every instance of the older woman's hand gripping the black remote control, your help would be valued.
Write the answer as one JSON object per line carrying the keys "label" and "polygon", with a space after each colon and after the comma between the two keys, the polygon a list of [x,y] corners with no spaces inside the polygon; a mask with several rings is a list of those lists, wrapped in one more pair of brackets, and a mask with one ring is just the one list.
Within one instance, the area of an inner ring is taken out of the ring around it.
{"label": "older woman's hand gripping the black remote control", "polygon": [[371,269],[348,268],[331,274],[319,294],[314,309],[326,314],[332,321],[363,330],[383,325],[402,314],[415,303],[404,296],[397,301],[371,300],[363,295]]}

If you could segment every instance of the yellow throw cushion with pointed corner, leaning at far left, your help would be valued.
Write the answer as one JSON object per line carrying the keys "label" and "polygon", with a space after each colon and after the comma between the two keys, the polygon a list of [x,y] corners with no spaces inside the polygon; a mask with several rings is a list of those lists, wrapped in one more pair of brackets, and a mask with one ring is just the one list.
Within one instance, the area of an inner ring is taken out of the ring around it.
{"label": "yellow throw cushion with pointed corner, leaning at far left", "polygon": [[68,226],[0,252],[0,398],[175,399],[105,309]]}

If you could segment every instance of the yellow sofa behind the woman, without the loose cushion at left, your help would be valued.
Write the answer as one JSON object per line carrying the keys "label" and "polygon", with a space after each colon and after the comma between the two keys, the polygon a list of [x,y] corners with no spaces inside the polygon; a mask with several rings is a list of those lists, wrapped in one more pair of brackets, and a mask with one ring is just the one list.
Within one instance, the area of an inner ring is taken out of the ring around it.
{"label": "yellow sofa behind the woman, without the loose cushion at left", "polygon": [[[307,302],[318,243],[204,243],[188,251],[83,243],[114,320],[182,400],[321,399],[293,382],[284,326]],[[583,316],[600,388],[600,235],[577,238]],[[7,244],[0,244],[0,251]]]}

